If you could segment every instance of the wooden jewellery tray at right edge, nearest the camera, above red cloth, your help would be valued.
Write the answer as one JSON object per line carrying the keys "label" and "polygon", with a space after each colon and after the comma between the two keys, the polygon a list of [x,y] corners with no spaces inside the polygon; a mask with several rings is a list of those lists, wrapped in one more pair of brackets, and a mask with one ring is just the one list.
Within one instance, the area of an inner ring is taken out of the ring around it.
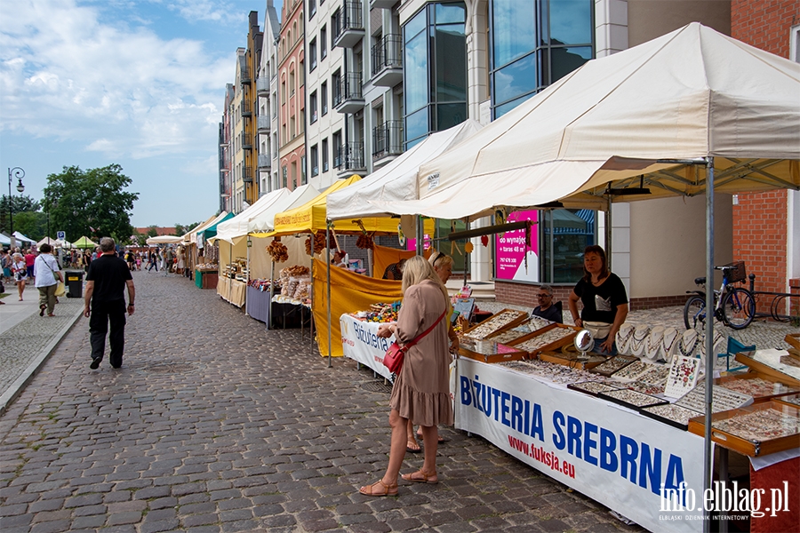
{"label": "wooden jewellery tray at right edge, nearest the camera, above red cloth", "polygon": [[[705,421],[692,418],[689,431],[704,435]],[[800,409],[772,400],[713,414],[711,440],[749,457],[800,447]]]}

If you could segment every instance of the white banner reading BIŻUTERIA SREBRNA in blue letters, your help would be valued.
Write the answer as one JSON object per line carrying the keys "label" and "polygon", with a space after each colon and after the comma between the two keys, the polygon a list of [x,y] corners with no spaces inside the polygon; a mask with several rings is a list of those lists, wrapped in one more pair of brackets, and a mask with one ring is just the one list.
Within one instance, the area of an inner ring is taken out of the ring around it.
{"label": "white banner reading BI\u017bUTERIA SREBRNA in blue letters", "polygon": [[[703,440],[612,402],[460,359],[456,427],[652,531],[700,531]],[[688,490],[683,490],[688,489]],[[690,498],[687,499],[687,496]],[[692,498],[696,501],[692,505]]]}

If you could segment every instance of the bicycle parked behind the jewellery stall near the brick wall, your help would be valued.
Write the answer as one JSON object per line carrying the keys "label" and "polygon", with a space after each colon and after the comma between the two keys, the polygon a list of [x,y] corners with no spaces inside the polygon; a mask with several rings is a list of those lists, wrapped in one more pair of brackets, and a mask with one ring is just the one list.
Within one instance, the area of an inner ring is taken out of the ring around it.
{"label": "bicycle parked behind the jewellery stall near the brick wall", "polygon": [[[743,282],[747,277],[743,261],[737,261],[723,267],[723,281],[719,290],[714,291],[714,317],[734,330],[743,330],[753,322],[756,315],[756,298],[753,293],[742,287],[734,287],[733,283]],[[696,285],[703,285],[703,290],[687,290],[692,297],[684,305],[684,325],[686,329],[704,330],[706,327],[706,291],[705,276],[695,278]]]}

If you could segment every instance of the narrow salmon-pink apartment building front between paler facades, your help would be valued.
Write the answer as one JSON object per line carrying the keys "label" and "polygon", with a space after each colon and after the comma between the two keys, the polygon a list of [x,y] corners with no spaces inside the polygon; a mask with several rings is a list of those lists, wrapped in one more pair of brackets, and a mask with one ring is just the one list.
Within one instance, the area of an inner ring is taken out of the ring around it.
{"label": "narrow salmon-pink apartment building front between paler facades", "polygon": [[278,46],[280,187],[293,190],[306,178],[306,72],[304,5],[284,0]]}

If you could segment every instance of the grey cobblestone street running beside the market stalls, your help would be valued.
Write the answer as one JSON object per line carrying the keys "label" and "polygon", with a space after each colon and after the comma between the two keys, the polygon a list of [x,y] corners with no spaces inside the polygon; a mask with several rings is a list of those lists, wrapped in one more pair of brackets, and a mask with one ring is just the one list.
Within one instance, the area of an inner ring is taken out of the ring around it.
{"label": "grey cobblestone street running beside the market stalls", "polygon": [[82,320],[0,417],[4,533],[640,530],[450,428],[438,485],[359,495],[387,464],[388,387],[212,290],[134,280],[122,369],[89,370]]}

